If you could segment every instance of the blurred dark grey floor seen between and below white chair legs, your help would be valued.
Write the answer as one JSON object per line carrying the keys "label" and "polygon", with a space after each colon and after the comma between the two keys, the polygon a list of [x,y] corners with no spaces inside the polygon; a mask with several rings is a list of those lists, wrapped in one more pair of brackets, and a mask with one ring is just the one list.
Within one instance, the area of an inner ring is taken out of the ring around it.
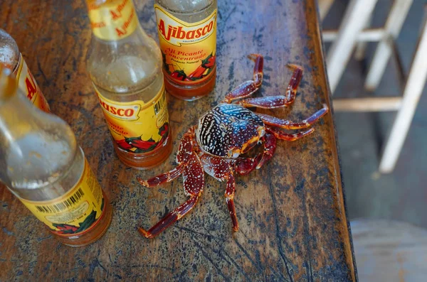
{"label": "blurred dark grey floor seen between and below white chair legs", "polygon": [[[384,26],[393,3],[393,0],[378,0],[371,28]],[[413,0],[396,39],[406,75],[416,51],[426,3],[424,0]],[[348,0],[335,0],[322,28],[339,28],[348,4]],[[325,43],[325,53],[330,45]],[[334,91],[334,98],[402,95],[398,67],[392,59],[387,63],[378,88],[374,92],[364,89],[367,70],[377,45],[368,43],[363,60],[356,60],[352,53]],[[421,94],[396,167],[391,173],[381,174],[381,150],[395,117],[396,112],[335,111],[349,217],[399,219],[427,228],[427,88],[424,87]]]}

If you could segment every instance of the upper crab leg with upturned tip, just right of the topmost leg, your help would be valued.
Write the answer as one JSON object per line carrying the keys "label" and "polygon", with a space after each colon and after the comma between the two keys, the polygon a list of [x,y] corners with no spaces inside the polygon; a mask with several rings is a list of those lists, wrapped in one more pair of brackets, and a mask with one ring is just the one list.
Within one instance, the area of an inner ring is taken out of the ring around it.
{"label": "upper crab leg with upturned tip, just right of the topmost leg", "polygon": [[258,107],[264,109],[274,109],[278,107],[287,107],[295,101],[297,95],[297,88],[300,85],[302,78],[302,67],[289,64],[288,67],[293,70],[292,77],[286,89],[285,95],[271,96],[271,97],[258,97],[243,99],[238,102],[243,107]]}

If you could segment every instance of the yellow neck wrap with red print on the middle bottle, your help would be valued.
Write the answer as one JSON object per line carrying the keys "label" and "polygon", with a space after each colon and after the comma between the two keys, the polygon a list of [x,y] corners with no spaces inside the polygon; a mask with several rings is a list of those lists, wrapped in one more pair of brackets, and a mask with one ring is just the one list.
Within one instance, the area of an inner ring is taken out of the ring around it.
{"label": "yellow neck wrap with red print on the middle bottle", "polygon": [[112,0],[105,4],[89,5],[93,34],[103,40],[119,40],[130,36],[138,26],[132,0]]}

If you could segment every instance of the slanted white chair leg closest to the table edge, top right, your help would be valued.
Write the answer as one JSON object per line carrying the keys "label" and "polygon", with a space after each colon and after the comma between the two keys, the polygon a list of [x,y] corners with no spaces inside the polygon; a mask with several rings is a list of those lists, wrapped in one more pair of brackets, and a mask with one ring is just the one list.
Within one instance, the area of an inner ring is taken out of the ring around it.
{"label": "slanted white chair leg closest to the table edge, top right", "polygon": [[347,6],[337,40],[332,43],[327,55],[327,73],[332,93],[337,88],[339,79],[352,55],[357,35],[367,23],[377,1],[352,0]]}

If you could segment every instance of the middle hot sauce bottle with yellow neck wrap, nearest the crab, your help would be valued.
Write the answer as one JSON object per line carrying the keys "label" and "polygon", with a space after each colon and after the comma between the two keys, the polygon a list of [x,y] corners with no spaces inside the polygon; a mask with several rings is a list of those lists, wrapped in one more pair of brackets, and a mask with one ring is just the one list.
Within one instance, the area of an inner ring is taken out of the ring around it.
{"label": "middle hot sauce bottle with yellow neck wrap, nearest the crab", "polygon": [[87,68],[117,156],[132,168],[157,166],[172,151],[162,53],[139,25],[132,0],[87,2]]}

